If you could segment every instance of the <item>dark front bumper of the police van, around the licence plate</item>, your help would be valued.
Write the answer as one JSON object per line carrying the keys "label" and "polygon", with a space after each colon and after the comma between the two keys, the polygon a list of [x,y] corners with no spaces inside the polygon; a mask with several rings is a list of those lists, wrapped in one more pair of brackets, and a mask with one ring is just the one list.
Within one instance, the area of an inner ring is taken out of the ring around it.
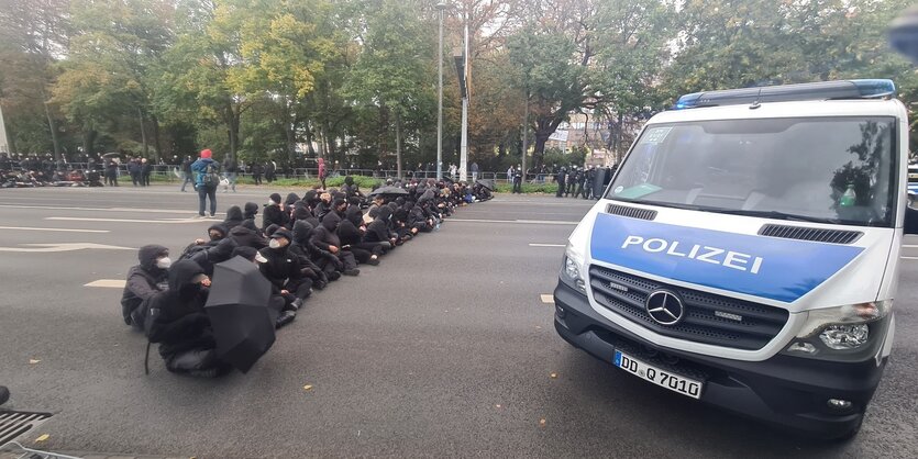
{"label": "dark front bumper of the police van, around the licence plate", "polygon": [[[705,381],[701,401],[789,428],[806,436],[836,438],[855,430],[883,374],[885,360],[840,363],[776,355],[740,361],[664,348],[593,310],[587,298],[564,282],[554,291],[555,329],[594,357],[612,362],[616,350],[648,363]],[[853,402],[830,408],[828,399]]]}

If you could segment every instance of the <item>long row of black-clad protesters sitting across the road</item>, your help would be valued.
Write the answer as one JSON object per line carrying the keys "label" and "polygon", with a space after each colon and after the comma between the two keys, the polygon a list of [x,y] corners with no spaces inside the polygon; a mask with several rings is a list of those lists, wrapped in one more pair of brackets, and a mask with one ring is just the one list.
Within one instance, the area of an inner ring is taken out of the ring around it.
{"label": "long row of black-clad protesters sitting across the road", "polygon": [[358,276],[360,265],[379,265],[385,254],[436,229],[468,202],[463,184],[430,180],[405,191],[367,200],[356,187],[345,186],[344,191],[309,190],[302,199],[290,193],[283,202],[274,193],[264,205],[261,227],[255,224],[258,204],[233,205],[176,262],[167,247],[143,246],[122,294],[124,323],[159,344],[169,371],[224,374],[230,367],[217,357],[203,310],[214,265],[235,256],[257,264],[272,283],[268,306],[276,310],[275,326],[280,328],[295,320],[313,290],[342,276]]}

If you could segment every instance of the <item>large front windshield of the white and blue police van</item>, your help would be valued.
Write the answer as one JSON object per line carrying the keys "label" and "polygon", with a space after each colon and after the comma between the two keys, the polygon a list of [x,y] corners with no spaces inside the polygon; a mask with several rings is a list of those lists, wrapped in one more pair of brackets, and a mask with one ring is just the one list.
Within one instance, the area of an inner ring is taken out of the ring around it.
{"label": "large front windshield of the white and blue police van", "polygon": [[648,126],[608,199],[893,226],[895,119],[719,120]]}

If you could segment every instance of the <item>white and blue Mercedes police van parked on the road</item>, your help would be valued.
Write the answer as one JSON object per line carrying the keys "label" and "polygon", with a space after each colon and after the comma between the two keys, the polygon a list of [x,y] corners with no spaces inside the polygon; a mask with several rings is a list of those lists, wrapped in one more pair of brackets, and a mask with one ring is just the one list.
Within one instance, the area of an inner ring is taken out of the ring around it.
{"label": "white and blue Mercedes police van parked on the road", "polygon": [[571,234],[557,333],[676,394],[853,436],[918,232],[906,117],[889,80],[683,96]]}

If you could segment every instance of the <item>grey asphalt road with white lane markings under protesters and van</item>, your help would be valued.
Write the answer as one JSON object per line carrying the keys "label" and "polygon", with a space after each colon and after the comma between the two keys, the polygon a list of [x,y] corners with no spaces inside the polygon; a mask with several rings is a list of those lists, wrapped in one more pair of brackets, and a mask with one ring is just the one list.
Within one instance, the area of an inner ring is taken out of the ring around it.
{"label": "grey asphalt road with white lane markings under protesters and van", "polygon": [[[219,209],[272,191],[220,193]],[[248,374],[199,380],[168,373],[155,348],[144,376],[145,340],[121,320],[121,289],[85,287],[123,279],[143,244],[175,258],[204,235],[212,221],[189,220],[195,194],[0,190],[0,383],[13,392],[4,407],[55,413],[25,439],[48,434],[42,448],[70,451],[918,457],[918,259],[904,260],[895,351],[862,433],[811,441],[651,387],[556,336],[540,295],[553,290],[561,245],[589,204],[501,195],[462,209],[379,267],[313,294]],[[108,247],[25,246],[60,243]],[[918,246],[905,255],[918,258]]]}

